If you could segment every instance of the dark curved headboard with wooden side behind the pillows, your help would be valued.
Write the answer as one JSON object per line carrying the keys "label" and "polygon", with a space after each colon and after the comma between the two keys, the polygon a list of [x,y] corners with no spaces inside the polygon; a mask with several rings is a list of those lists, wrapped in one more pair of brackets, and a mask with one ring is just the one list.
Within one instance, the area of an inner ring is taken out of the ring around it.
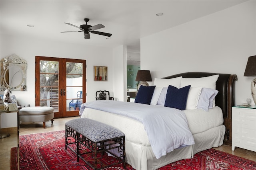
{"label": "dark curved headboard with wooden side behind the pillows", "polygon": [[[216,74],[219,73],[185,72],[164,78],[170,79],[180,76],[184,78],[198,78],[212,76]],[[234,86],[236,80],[236,74],[219,74],[218,80],[216,82],[216,90],[218,90],[219,92],[215,98],[215,103],[216,106],[220,107],[223,112],[223,125],[226,126],[226,133],[224,137],[224,142],[226,145],[232,145],[232,106],[235,105]]]}

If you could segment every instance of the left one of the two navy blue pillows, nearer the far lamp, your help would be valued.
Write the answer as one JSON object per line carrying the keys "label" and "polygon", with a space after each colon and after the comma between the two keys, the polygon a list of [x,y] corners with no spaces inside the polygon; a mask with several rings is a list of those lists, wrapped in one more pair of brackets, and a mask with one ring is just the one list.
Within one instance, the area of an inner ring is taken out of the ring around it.
{"label": "left one of the two navy blue pillows, nearer the far lamp", "polygon": [[156,86],[140,86],[135,103],[150,104]]}

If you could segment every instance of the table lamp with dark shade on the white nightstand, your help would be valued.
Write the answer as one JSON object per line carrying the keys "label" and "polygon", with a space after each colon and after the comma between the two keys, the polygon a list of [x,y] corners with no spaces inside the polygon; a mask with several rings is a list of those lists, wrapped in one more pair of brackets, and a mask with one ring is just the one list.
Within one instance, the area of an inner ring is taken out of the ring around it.
{"label": "table lamp with dark shade on the white nightstand", "polygon": [[[248,58],[244,76],[256,76],[256,55]],[[251,83],[251,94],[254,104],[256,105],[256,78]]]}

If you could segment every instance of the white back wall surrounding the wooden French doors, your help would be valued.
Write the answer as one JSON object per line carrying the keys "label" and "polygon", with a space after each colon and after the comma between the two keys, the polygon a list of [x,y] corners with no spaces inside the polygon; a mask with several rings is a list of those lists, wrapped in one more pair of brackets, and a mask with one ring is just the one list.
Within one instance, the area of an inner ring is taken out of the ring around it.
{"label": "white back wall surrounding the wooden French doors", "polygon": [[[1,34],[0,47],[1,59],[15,53],[28,63],[26,72],[27,91],[12,91],[12,94],[14,94],[17,100],[22,102],[22,104],[35,106],[35,56],[84,59],[87,64],[86,101],[95,100],[95,92],[98,90],[109,90],[113,94],[112,48],[44,41],[29,37],[13,37],[3,34]],[[108,81],[94,82],[94,65],[108,66]]]}

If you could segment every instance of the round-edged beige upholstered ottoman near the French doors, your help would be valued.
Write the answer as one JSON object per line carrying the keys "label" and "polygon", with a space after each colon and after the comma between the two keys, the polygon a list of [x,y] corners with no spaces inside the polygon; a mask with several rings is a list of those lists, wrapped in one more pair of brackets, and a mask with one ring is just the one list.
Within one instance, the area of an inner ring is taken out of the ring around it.
{"label": "round-edged beige upholstered ottoman near the French doors", "polygon": [[48,120],[52,120],[54,118],[54,108],[53,107],[22,107],[19,111],[20,121],[42,121],[43,127],[45,128],[45,122]]}

